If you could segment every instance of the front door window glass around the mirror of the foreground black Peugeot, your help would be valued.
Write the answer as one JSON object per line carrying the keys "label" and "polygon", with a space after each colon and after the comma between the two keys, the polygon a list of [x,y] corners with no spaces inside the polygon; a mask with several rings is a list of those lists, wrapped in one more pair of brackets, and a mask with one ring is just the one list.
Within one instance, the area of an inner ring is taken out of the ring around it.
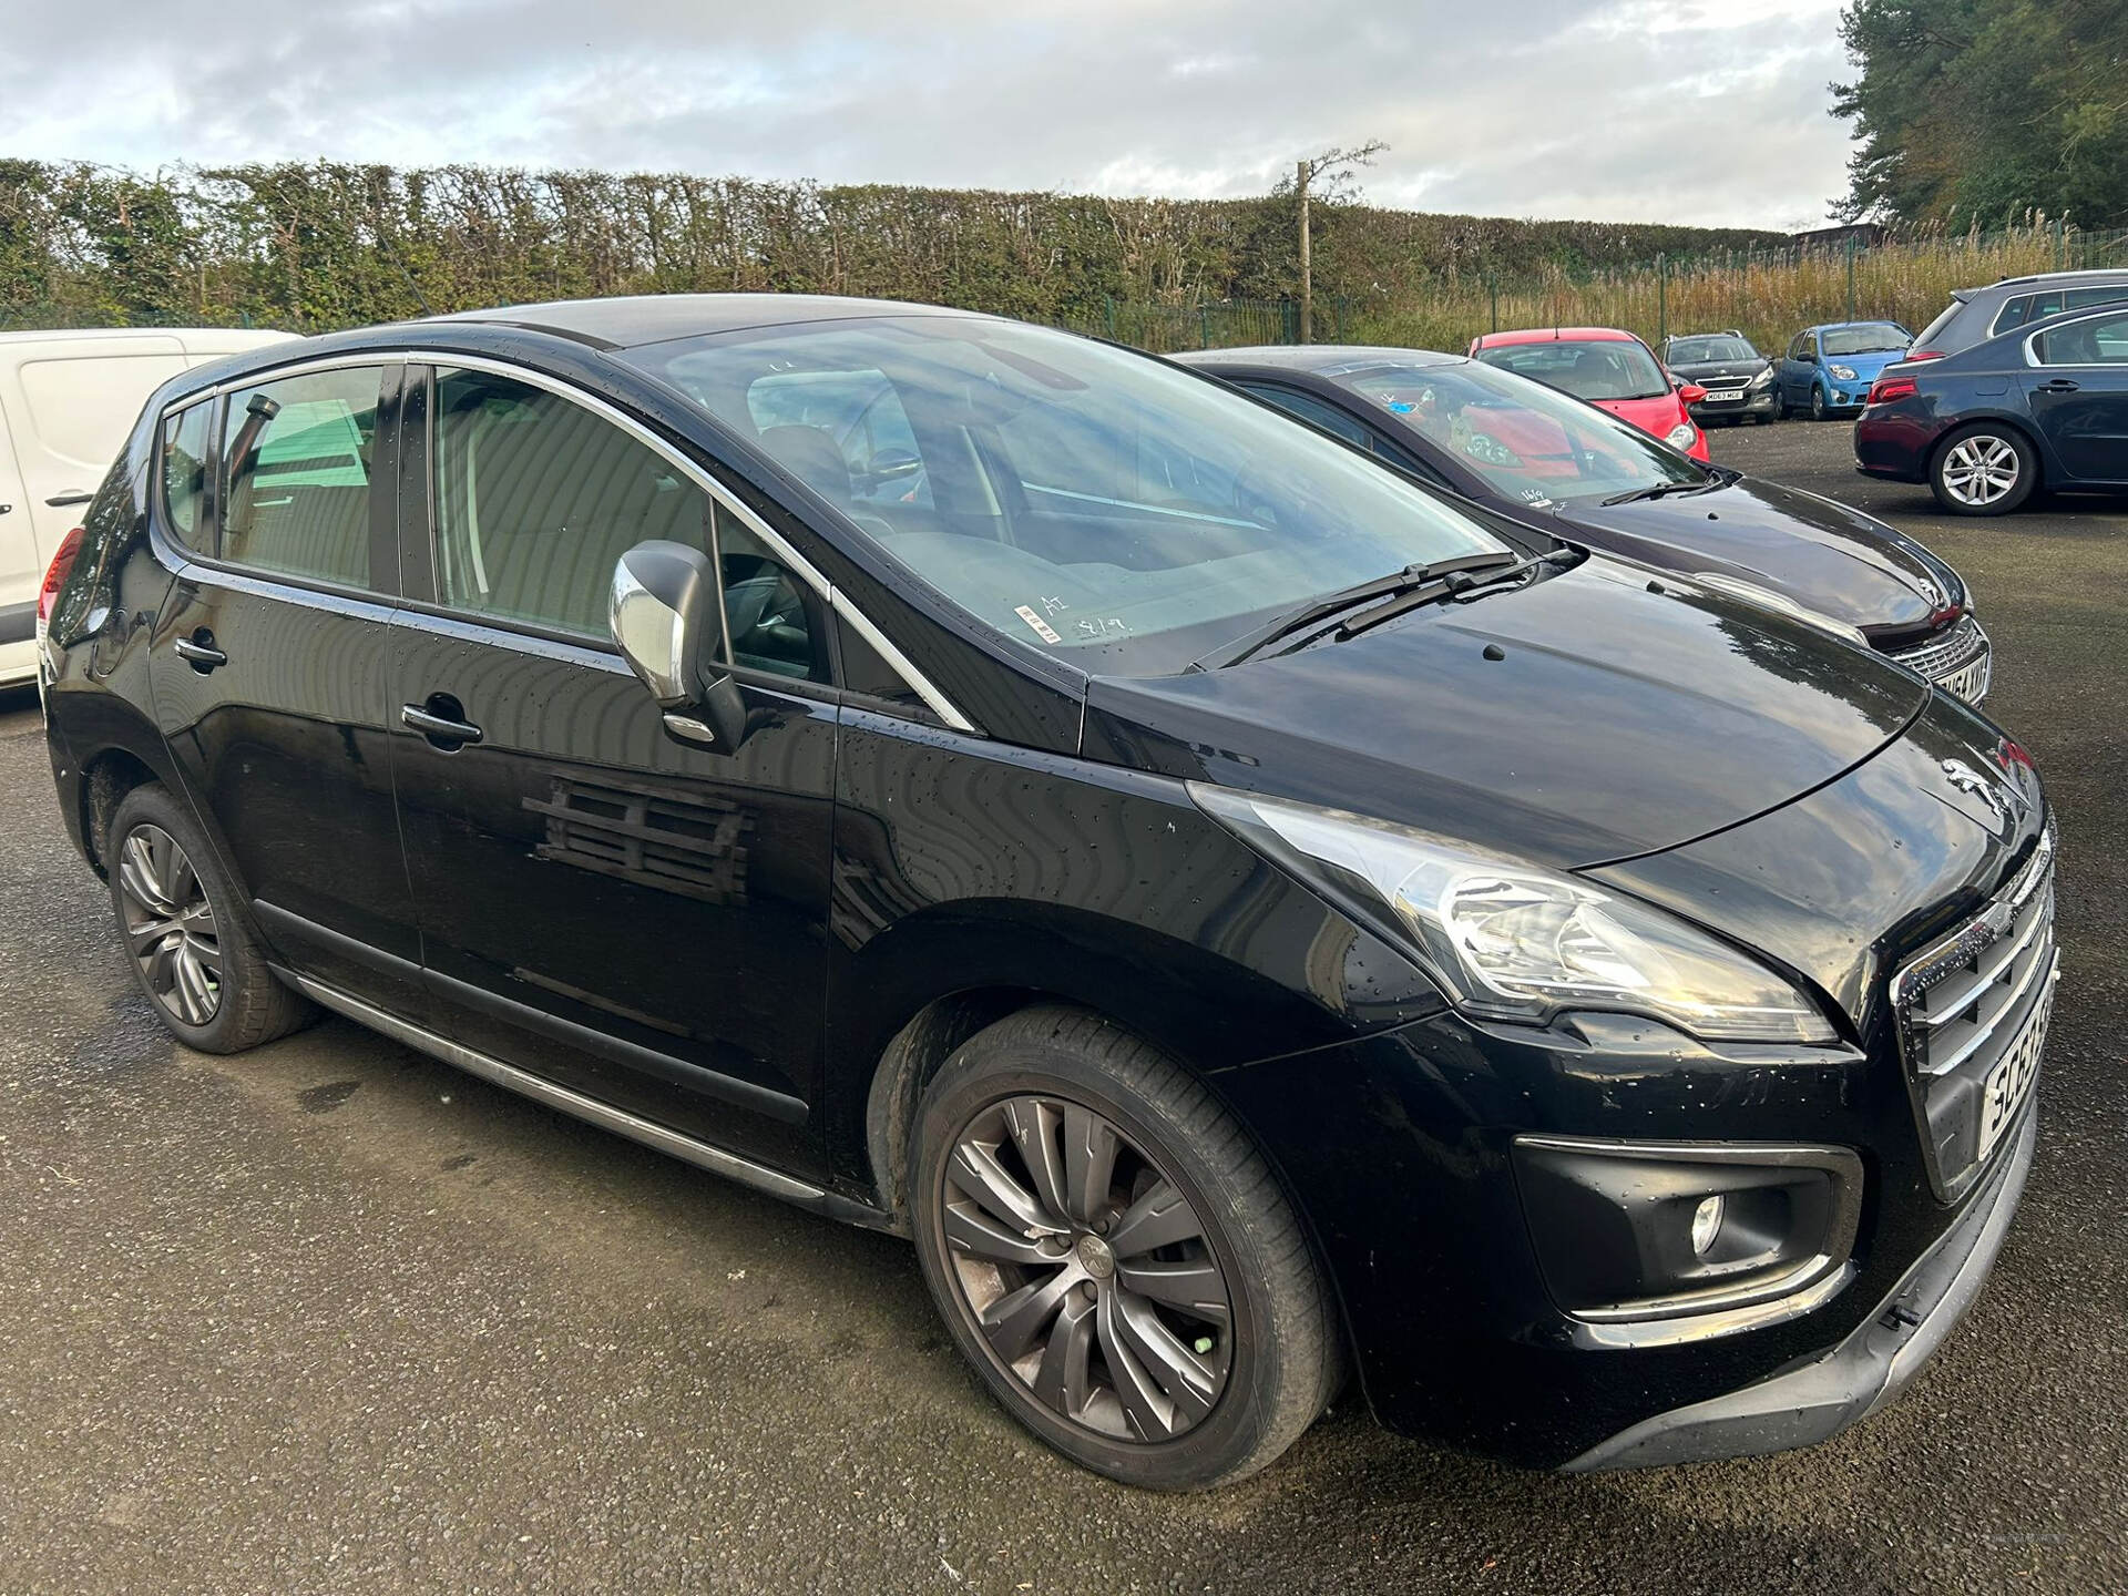
{"label": "front door window glass around the mirror of the foreground black Peugeot", "polygon": [[721,551],[732,664],[828,677],[804,583],[679,466],[560,394],[440,370],[434,504],[436,585],[455,611],[604,643],[615,562],[662,538]]}

